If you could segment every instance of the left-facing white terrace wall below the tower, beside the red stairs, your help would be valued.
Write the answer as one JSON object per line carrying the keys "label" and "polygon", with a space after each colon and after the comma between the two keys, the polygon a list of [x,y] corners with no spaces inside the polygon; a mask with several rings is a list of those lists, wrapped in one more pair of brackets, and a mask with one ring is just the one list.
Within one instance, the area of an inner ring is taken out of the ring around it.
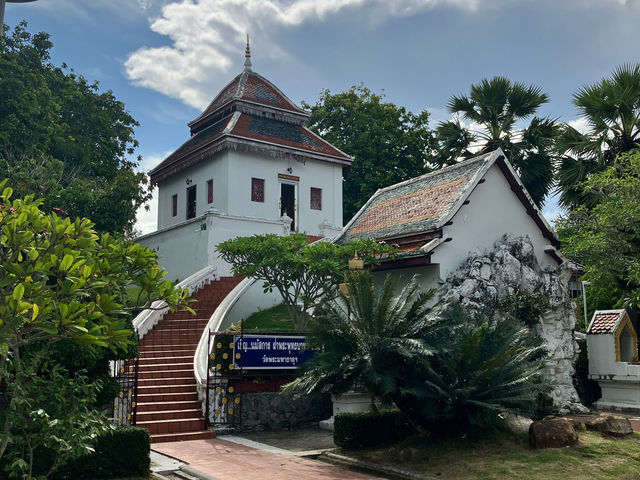
{"label": "left-facing white terrace wall below the tower, beside the red stairs", "polygon": [[202,230],[203,217],[144,235],[136,239],[142,246],[158,253],[158,264],[167,271],[169,280],[184,280],[207,265],[209,232]]}

